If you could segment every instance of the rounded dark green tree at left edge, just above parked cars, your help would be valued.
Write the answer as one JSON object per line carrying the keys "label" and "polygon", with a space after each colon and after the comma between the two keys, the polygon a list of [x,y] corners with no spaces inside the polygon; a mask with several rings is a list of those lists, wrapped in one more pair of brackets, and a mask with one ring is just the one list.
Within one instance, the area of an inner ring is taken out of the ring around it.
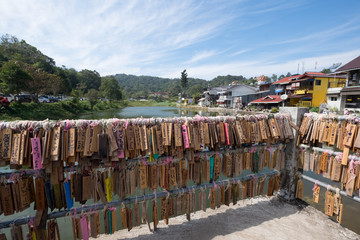
{"label": "rounded dark green tree at left edge, just above parked cars", "polygon": [[0,70],[0,89],[3,93],[19,94],[28,90],[32,77],[16,61],[8,61]]}

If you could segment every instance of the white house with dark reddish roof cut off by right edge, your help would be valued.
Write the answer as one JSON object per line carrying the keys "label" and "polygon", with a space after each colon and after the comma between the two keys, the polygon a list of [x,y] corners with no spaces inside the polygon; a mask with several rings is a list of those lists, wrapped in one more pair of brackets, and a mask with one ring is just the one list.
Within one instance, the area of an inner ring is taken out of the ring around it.
{"label": "white house with dark reddish roof cut off by right edge", "polygon": [[[328,99],[336,99],[336,106],[341,112],[345,109],[360,112],[360,56],[337,69],[335,73],[344,74],[346,81],[341,87],[329,88]],[[329,106],[333,105],[332,101],[328,103]]]}

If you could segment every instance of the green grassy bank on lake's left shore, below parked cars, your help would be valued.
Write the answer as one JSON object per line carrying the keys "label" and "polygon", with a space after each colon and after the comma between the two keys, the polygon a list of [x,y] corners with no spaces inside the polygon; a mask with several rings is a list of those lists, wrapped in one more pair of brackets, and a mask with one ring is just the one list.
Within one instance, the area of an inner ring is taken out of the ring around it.
{"label": "green grassy bank on lake's left shore, below parked cars", "polygon": [[126,101],[98,102],[91,109],[88,101],[63,101],[57,103],[11,103],[9,109],[1,109],[0,120],[60,120],[74,119],[79,114],[127,106]]}

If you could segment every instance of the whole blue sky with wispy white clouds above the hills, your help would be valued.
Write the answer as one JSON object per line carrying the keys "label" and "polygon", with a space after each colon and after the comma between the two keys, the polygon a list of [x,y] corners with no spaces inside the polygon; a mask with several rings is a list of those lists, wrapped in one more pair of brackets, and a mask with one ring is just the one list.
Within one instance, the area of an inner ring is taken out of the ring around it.
{"label": "whole blue sky with wispy white clouds above the hills", "polygon": [[358,0],[1,0],[0,35],[58,66],[212,79],[314,71],[360,55]]}

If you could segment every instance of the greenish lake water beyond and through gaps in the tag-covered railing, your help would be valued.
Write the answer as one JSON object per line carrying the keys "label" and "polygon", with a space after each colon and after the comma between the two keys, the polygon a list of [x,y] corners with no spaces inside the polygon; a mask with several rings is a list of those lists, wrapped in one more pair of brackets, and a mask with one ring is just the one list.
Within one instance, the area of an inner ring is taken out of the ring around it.
{"label": "greenish lake water beyond and through gaps in the tag-covered railing", "polygon": [[[195,115],[202,115],[202,116],[217,116],[217,115],[226,115],[224,113],[216,113],[216,112],[205,112],[205,111],[198,111],[193,109],[187,108],[176,108],[176,107],[125,107],[120,110],[107,110],[101,112],[95,112],[91,114],[83,114],[79,116],[79,119],[102,119],[102,118],[137,118],[137,117],[144,117],[144,118],[151,118],[151,117],[180,117],[180,116],[188,116],[193,117]],[[1,168],[0,168],[1,171]],[[320,181],[327,182],[331,185],[338,185],[335,184],[328,179],[323,178],[322,176],[315,175],[310,172],[304,172],[304,174],[309,175],[313,178],[316,178]],[[324,203],[325,203],[325,191],[326,189],[321,188],[320,191],[320,199],[319,203],[314,203],[312,201],[312,187],[313,183],[310,183],[306,180],[303,180],[304,183],[304,200],[309,203],[311,206],[317,208],[321,212],[324,212]],[[114,200],[118,200],[118,197],[115,196]],[[357,216],[360,215],[360,208],[358,203],[353,200],[350,200],[346,197],[342,196],[342,202],[344,204],[344,212],[343,212],[343,222],[342,225],[351,229],[352,231],[360,234],[360,218]],[[88,201],[87,204],[92,204],[92,201]],[[80,207],[80,204],[75,204],[76,207]],[[56,210],[54,210],[56,211]],[[23,212],[17,213],[15,215],[5,217],[4,215],[0,216],[0,221],[8,221],[14,218],[20,217],[27,217],[27,216],[34,216],[35,211],[33,210],[33,204],[31,207]],[[117,211],[117,217],[120,219],[120,208]],[[102,219],[102,215],[101,218]],[[332,219],[335,219],[333,217]],[[67,229],[67,231],[61,231],[61,238],[62,239],[72,239],[72,230],[71,230],[71,220],[69,217],[58,218],[57,222],[59,224],[60,229]],[[103,221],[101,222],[101,229],[104,228]],[[120,227],[120,220],[117,222],[118,227]],[[3,229],[0,230],[1,232],[5,232],[10,239],[10,229]],[[23,232],[27,232],[27,229],[23,226]]]}

